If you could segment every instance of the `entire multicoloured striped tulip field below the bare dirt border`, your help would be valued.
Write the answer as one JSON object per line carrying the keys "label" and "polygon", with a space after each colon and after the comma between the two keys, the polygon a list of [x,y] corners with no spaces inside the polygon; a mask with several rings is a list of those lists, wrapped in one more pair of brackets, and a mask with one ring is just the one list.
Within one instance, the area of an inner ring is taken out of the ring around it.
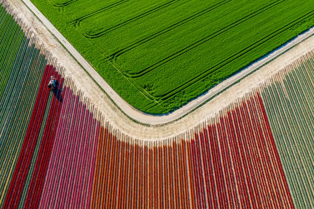
{"label": "entire multicoloured striped tulip field below the bare dirt border", "polygon": [[314,52],[151,141],[114,129],[6,5],[0,66],[1,208],[314,207]]}

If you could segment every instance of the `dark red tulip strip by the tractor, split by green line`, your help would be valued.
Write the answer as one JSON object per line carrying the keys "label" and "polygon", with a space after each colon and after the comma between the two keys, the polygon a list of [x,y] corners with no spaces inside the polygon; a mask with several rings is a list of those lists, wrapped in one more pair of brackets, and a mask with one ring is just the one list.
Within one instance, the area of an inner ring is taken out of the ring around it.
{"label": "dark red tulip strip by the tractor, split by green line", "polygon": [[[50,94],[47,88],[50,75],[55,75],[59,80],[60,86],[62,86],[62,79],[58,75],[51,65],[47,65],[41,79],[40,88],[37,92],[33,111],[28,122],[28,127],[24,140],[22,141],[21,149],[17,157],[15,169],[12,179],[10,181],[9,189],[4,201],[4,207],[13,207],[20,202],[23,188],[26,182],[28,172],[30,171],[30,165],[33,158],[33,153],[36,148],[37,141],[40,137],[41,130],[43,129],[43,135],[41,136],[40,149],[37,153],[33,173],[31,174],[30,184],[27,185],[28,192],[26,196],[25,204],[28,205],[31,200],[30,207],[36,203],[36,197],[38,192],[41,191],[41,180],[44,180],[46,175],[45,161],[49,160],[51,144],[53,143],[55,126],[58,123],[58,116],[60,115],[58,110],[60,109],[60,102],[57,97],[51,100],[51,106],[49,110],[46,109],[48,105],[48,99]],[[47,122],[44,121],[45,112],[49,111]],[[44,124],[44,126],[43,126]]]}

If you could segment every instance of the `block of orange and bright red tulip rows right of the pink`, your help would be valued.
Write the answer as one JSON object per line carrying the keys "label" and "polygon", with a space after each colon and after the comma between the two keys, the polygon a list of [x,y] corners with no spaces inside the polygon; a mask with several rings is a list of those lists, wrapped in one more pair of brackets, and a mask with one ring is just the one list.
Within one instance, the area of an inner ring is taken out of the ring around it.
{"label": "block of orange and bright red tulip rows right of the pink", "polygon": [[193,138],[138,145],[101,127],[91,206],[294,207],[259,95]]}

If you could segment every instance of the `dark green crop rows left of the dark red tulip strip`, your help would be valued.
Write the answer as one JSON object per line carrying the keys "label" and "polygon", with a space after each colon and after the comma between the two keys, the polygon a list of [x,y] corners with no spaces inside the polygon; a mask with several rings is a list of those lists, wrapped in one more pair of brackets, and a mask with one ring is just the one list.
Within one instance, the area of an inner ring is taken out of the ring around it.
{"label": "dark green crop rows left of the dark red tulip strip", "polygon": [[0,207],[25,138],[47,64],[40,50],[0,6]]}

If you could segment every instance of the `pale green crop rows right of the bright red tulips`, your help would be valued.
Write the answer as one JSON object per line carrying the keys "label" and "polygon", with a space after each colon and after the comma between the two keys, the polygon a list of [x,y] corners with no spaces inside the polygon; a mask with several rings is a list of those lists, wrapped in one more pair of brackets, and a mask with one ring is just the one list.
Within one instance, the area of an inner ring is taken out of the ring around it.
{"label": "pale green crop rows right of the bright red tulips", "polygon": [[261,89],[274,140],[296,207],[314,203],[314,54],[311,52]]}

